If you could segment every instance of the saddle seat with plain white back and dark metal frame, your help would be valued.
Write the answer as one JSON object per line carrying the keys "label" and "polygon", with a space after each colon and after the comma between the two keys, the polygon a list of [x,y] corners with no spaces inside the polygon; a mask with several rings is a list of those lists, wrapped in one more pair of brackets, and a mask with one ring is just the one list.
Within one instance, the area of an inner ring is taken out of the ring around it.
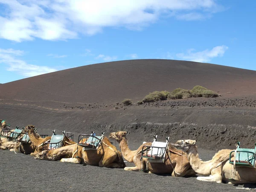
{"label": "saddle seat with plain white back and dark metal frame", "polygon": [[169,145],[169,138],[166,137],[166,142],[158,142],[157,135],[154,136],[154,140],[151,145],[144,145],[141,150],[141,163],[143,158],[147,158],[146,169],[143,170],[143,165],[141,166],[141,171],[148,170],[148,162],[150,163],[164,163],[166,151]]}

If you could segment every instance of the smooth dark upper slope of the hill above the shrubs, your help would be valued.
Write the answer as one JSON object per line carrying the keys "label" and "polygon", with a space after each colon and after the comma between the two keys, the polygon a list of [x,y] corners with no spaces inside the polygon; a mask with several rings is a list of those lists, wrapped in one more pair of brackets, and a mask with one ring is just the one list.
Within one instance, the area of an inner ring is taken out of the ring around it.
{"label": "smooth dark upper slope of the hill above the shrubs", "polygon": [[[0,86],[0,99],[59,102],[141,100],[154,90],[202,85],[224,94],[255,93],[256,71],[189,61],[144,59],[77,67]],[[231,96],[231,94],[230,94]]]}

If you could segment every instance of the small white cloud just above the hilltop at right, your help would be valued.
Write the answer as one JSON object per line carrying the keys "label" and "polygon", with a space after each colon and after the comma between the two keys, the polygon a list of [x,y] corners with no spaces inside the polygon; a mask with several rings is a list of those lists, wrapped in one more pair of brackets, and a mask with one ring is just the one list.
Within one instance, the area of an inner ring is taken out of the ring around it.
{"label": "small white cloud just above the hilltop at right", "polygon": [[176,56],[188,61],[209,62],[212,58],[223,56],[227,49],[228,47],[225,45],[216,46],[211,50],[206,49],[201,52],[195,52],[195,49],[189,49],[187,53],[178,53]]}

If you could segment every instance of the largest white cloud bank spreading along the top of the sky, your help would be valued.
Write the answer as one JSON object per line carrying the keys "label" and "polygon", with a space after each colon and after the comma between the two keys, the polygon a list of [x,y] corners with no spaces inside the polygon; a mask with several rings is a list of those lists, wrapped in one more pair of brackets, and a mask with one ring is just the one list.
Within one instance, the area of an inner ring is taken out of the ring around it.
{"label": "largest white cloud bank spreading along the top of the sky", "polygon": [[216,0],[0,0],[0,38],[66,40],[104,27],[141,30],[162,15],[202,20],[219,9]]}

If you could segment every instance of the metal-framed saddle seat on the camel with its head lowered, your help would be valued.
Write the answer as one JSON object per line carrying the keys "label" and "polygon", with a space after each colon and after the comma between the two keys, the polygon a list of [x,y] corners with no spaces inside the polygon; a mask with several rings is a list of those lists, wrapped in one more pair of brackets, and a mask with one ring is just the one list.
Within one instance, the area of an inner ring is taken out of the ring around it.
{"label": "metal-framed saddle seat on the camel with its head lowered", "polygon": [[94,131],[90,135],[80,134],[77,145],[82,146],[84,150],[97,150],[99,145],[102,144],[104,134],[105,132],[102,132],[101,136],[96,136]]}

